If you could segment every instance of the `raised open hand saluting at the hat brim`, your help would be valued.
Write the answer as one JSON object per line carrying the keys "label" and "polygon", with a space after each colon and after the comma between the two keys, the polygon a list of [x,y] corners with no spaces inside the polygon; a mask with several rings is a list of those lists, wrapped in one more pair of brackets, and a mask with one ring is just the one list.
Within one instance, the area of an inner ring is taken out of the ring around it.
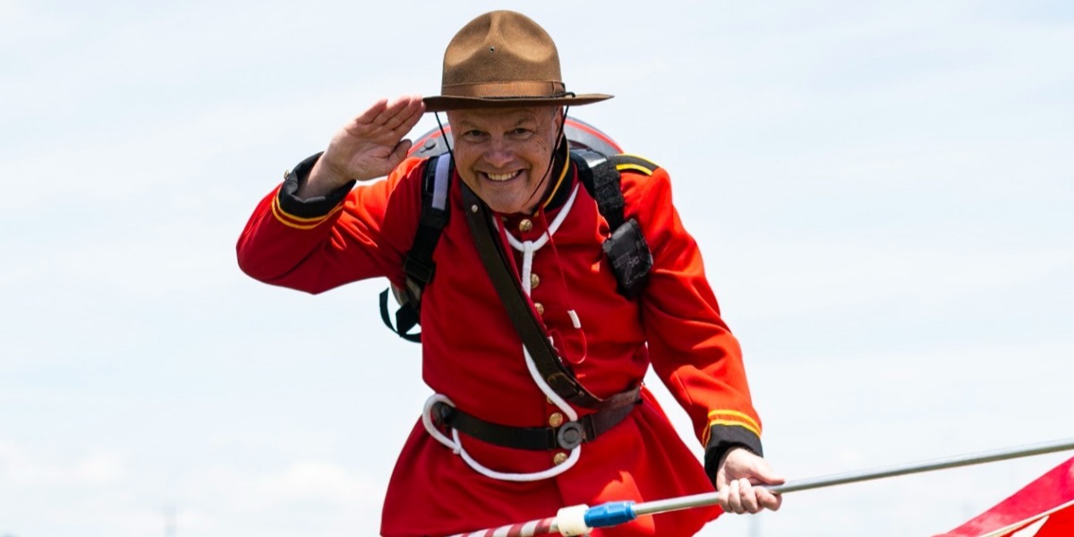
{"label": "raised open hand saluting at the hat brim", "polygon": [[377,101],[335,133],[309,177],[300,185],[299,197],[323,195],[351,179],[388,175],[406,158],[411,142],[403,136],[424,112],[420,96]]}

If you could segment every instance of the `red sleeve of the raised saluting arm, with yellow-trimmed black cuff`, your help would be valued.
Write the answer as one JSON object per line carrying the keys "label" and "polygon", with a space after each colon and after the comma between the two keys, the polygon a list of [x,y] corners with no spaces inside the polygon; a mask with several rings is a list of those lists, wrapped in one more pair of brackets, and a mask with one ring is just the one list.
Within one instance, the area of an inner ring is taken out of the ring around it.
{"label": "red sleeve of the raised saluting arm, with yellow-trimmed black cuff", "polygon": [[[313,162],[295,171],[308,174]],[[293,194],[291,183],[302,173],[289,174],[253,209],[238,237],[238,266],[266,284],[310,293],[376,276],[402,281],[421,214],[422,162],[408,159],[387,179],[338,192],[342,201],[329,194],[308,204]]]}

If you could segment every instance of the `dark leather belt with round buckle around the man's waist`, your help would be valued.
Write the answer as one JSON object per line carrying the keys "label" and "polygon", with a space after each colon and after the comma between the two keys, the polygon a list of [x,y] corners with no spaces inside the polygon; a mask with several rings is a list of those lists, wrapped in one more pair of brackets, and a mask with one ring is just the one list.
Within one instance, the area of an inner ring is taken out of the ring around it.
{"label": "dark leather belt with round buckle around the man's waist", "polygon": [[437,424],[458,430],[479,440],[505,448],[545,451],[553,449],[575,449],[583,441],[593,441],[597,436],[623,421],[634,407],[641,403],[639,389],[635,388],[613,397],[618,404],[568,421],[557,427],[514,427],[500,425],[466,413],[447,403],[433,404],[433,420]]}

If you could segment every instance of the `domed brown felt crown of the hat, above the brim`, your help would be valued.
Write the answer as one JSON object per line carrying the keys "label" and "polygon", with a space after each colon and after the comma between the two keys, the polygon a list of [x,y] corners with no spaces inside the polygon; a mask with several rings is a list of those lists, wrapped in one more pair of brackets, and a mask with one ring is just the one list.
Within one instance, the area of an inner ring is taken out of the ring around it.
{"label": "domed brown felt crown of the hat, above the brim", "polygon": [[[475,18],[459,30],[444,54],[446,96],[506,97],[503,85],[525,83],[514,89],[526,92],[516,96],[550,97],[564,90],[562,79],[552,38],[529,17],[511,11]],[[532,92],[535,89],[543,90]]]}

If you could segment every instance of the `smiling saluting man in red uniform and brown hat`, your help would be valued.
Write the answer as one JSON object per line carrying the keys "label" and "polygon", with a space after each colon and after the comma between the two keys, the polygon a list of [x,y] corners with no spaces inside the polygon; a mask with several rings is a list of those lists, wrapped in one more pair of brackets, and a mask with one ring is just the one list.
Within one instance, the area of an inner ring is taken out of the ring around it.
{"label": "smiling saluting man in red uniform and brown hat", "polygon": [[[781,498],[754,487],[782,478],[761,459],[741,351],[664,169],[641,159],[619,166],[623,216],[652,257],[644,286],[622,292],[601,248],[616,230],[581,185],[564,107],[611,96],[567,92],[551,38],[512,12],[460,30],[441,92],[381,100],[349,121],[261,201],[237,247],[242,268],[273,285],[317,293],[383,276],[403,287],[432,176],[427,159],[406,158],[404,136],[423,113],[447,112],[453,217],[420,303],[423,379],[436,395],[396,463],[382,535],[451,535],[713,487],[723,510],[778,509]],[[520,336],[479,235],[504,252],[524,304],[513,315],[523,309],[551,342],[566,372],[558,378]],[[650,364],[690,415],[703,467],[641,386]],[[562,388],[564,377],[578,392]],[[593,535],[694,535],[720,511],[642,517]]]}

